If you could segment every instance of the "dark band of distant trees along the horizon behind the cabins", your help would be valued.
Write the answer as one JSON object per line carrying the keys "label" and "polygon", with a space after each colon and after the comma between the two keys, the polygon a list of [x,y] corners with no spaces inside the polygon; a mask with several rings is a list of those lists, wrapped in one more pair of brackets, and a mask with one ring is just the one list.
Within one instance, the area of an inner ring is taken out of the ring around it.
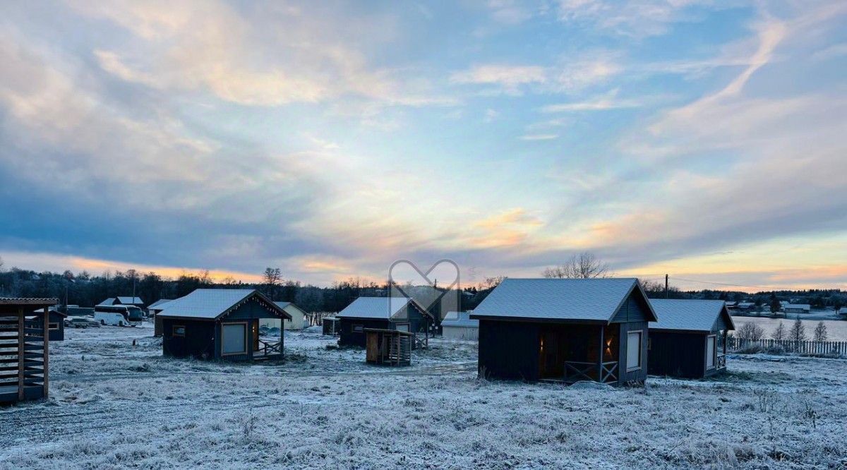
{"label": "dark band of distant trees along the horizon behind the cabins", "polygon": [[[208,271],[197,274],[185,273],[170,279],[156,273],[139,273],[135,270],[106,271],[93,275],[86,271],[74,274],[36,272],[29,269],[3,267],[0,260],[0,296],[6,297],[54,297],[64,304],[93,307],[114,296],[131,296],[135,285],[136,296],[145,304],[159,299],[175,299],[192,290],[205,289],[258,289],[274,301],[293,301],[307,312],[338,312],[360,296],[385,296],[386,285],[366,282],[362,279],[347,279],[328,287],[303,285],[300,281],[284,279],[279,268],[267,268],[263,281],[244,283],[235,279],[215,281]],[[462,288],[462,310],[472,310],[479,305],[502,276],[485,278],[476,285]],[[652,281],[642,283],[651,298],[664,298],[664,285]],[[67,297],[66,297],[67,296]],[[748,294],[729,290],[679,290],[671,286],[667,296],[676,299],[718,299],[726,301],[753,301],[756,305],[769,306],[774,301],[809,303],[815,308],[847,306],[847,293],[841,290],[776,290]]]}

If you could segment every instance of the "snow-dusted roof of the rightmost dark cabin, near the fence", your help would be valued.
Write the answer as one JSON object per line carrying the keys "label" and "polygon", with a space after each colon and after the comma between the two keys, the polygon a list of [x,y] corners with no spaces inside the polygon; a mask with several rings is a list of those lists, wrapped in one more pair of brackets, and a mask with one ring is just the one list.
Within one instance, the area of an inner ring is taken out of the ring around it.
{"label": "snow-dusted roof of the rightmost dark cabin, near the fence", "polygon": [[650,322],[650,329],[708,332],[724,312],[728,325],[735,329],[723,301],[650,299],[650,304],[659,316],[659,321]]}

